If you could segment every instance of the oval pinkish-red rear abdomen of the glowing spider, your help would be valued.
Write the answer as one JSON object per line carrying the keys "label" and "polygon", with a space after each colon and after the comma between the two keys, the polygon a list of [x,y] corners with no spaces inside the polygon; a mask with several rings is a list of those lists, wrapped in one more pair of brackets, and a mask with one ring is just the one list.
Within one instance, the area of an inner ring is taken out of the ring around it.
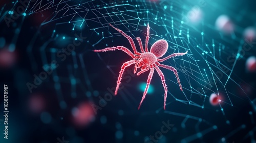
{"label": "oval pinkish-red rear abdomen of the glowing spider", "polygon": [[150,52],[156,55],[157,58],[162,57],[168,49],[168,43],[165,40],[156,41],[150,49]]}

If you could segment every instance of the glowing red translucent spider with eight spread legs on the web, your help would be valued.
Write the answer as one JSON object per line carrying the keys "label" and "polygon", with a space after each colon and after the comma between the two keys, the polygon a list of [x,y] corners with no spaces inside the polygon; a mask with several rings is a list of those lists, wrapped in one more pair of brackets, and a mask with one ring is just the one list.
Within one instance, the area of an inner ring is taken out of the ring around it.
{"label": "glowing red translucent spider with eight spread legs on the web", "polygon": [[[113,27],[111,24],[110,24],[110,26]],[[130,42],[130,44],[133,48],[133,51],[135,53],[135,54],[133,54],[130,50],[128,50],[124,46],[113,46],[113,47],[106,47],[105,49],[102,49],[102,50],[94,50],[94,52],[106,52],[106,51],[122,50],[123,52],[127,53],[129,56],[131,56],[133,58],[133,60],[130,60],[130,61],[127,61],[127,62],[123,63],[123,65],[121,67],[121,70],[119,72],[119,76],[118,76],[118,79],[117,79],[117,86],[116,86],[116,90],[115,90],[115,95],[117,94],[117,90],[119,88],[119,85],[121,84],[123,71],[127,66],[135,64],[134,74],[136,73],[137,68],[140,68],[141,70],[137,73],[137,76],[139,76],[140,74],[142,74],[145,71],[147,71],[148,69],[150,69],[150,74],[148,75],[147,82],[146,82],[146,88],[144,90],[143,97],[142,97],[140,105],[138,107],[138,110],[139,110],[143,100],[145,99],[147,89],[150,86],[150,82],[151,82],[154,70],[156,69],[158,75],[161,77],[162,84],[163,84],[163,87],[164,87],[163,108],[165,110],[165,103],[166,103],[166,98],[167,98],[167,86],[165,84],[164,75],[163,75],[162,71],[159,69],[158,66],[174,71],[174,74],[177,78],[177,81],[178,81],[178,84],[180,86],[181,91],[182,91],[182,87],[181,87],[181,84],[180,84],[180,79],[179,79],[177,70],[172,66],[160,64],[159,62],[163,62],[163,61],[165,61],[169,58],[173,58],[173,57],[176,57],[176,56],[185,55],[185,54],[187,54],[187,51],[185,53],[174,53],[174,54],[169,55],[165,58],[159,59],[160,57],[162,57],[167,52],[168,43],[165,40],[158,40],[151,46],[151,50],[150,50],[150,52],[148,52],[147,44],[148,44],[148,40],[150,39],[150,26],[147,24],[147,35],[146,35],[146,41],[145,41],[145,51],[143,50],[143,46],[142,46],[142,42],[141,42],[140,37],[136,38],[139,42],[139,45],[140,45],[141,53],[139,53],[139,52],[137,52],[136,47],[135,47],[135,43],[134,43],[133,39],[130,36],[125,34],[120,29],[117,29],[115,27],[113,27],[113,28],[115,30],[117,30],[118,32],[120,32],[125,38],[127,38],[129,40],[129,42]]]}

